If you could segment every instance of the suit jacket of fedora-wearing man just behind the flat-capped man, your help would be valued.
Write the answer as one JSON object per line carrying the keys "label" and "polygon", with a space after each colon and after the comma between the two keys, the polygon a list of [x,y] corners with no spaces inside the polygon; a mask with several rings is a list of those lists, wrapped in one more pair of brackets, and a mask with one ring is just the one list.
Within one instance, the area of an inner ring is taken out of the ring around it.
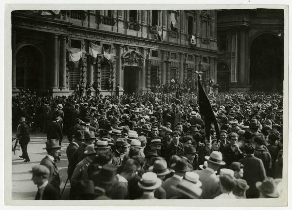
{"label": "suit jacket of fedora-wearing man just behind the flat-capped man", "polygon": [[50,175],[48,177],[49,183],[58,191],[60,191],[61,179],[55,162],[53,162],[48,156],[46,156],[41,160],[39,164],[48,167],[48,169],[50,170]]}

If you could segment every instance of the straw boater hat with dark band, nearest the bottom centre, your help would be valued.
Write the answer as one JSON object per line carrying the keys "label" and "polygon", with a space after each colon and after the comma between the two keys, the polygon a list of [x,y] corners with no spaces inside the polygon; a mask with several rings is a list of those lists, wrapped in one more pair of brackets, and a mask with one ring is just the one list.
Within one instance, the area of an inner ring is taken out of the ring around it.
{"label": "straw boater hat with dark band, nearest the bottom centre", "polygon": [[155,190],[162,184],[160,178],[153,172],[146,172],[142,175],[142,178],[138,182],[138,186],[144,190]]}

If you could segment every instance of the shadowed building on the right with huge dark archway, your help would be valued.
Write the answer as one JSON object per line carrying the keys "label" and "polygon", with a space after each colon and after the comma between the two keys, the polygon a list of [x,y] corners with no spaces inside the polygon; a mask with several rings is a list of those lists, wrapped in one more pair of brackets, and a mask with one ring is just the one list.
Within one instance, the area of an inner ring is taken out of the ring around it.
{"label": "shadowed building on the right with huge dark archway", "polygon": [[220,91],[281,91],[284,74],[284,11],[217,11]]}

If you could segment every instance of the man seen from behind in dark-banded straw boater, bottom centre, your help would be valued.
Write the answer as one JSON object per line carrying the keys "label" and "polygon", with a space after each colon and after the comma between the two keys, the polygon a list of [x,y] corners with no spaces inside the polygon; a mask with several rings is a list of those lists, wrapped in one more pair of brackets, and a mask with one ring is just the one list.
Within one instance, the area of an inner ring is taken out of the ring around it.
{"label": "man seen from behind in dark-banded straw boater, bottom centre", "polygon": [[159,188],[162,184],[160,178],[153,172],[146,172],[142,175],[141,180],[138,182],[138,186],[144,191],[143,195],[138,200],[142,199],[157,199],[154,196],[154,190]]}

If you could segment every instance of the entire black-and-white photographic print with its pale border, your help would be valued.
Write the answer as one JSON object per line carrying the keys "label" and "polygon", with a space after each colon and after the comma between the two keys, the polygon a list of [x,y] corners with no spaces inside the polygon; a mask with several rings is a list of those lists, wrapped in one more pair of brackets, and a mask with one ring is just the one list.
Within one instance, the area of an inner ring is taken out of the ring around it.
{"label": "entire black-and-white photographic print with its pale border", "polygon": [[285,5],[70,6],[9,7],[6,203],[287,205]]}

